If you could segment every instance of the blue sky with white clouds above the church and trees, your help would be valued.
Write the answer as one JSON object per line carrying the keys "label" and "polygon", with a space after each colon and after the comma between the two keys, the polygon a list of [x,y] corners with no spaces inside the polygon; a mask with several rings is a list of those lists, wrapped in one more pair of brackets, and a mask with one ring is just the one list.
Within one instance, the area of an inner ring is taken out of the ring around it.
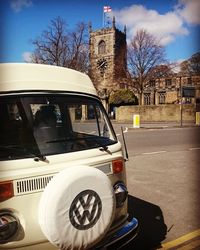
{"label": "blue sky with white clouds above the church and trees", "polygon": [[177,62],[200,51],[200,0],[0,0],[0,62],[23,62],[34,50],[31,40],[62,17],[69,29],[78,22],[102,28],[103,6],[110,6],[116,26],[127,26],[127,41],[144,28]]}

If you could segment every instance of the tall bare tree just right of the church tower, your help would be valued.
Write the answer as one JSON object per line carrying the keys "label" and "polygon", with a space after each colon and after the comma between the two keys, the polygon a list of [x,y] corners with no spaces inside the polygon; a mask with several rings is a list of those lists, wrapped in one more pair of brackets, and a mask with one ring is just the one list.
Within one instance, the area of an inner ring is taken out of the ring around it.
{"label": "tall bare tree just right of the church tower", "polygon": [[164,62],[164,47],[146,30],[138,30],[128,46],[128,68],[134,79],[133,87],[140,96],[140,104],[142,104],[144,86],[151,70]]}

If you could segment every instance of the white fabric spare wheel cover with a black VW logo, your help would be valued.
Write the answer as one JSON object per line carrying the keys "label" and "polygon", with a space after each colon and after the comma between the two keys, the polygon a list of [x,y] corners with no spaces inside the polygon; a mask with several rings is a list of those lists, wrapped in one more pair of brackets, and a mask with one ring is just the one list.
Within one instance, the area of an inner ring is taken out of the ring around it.
{"label": "white fabric spare wheel cover with a black VW logo", "polygon": [[60,249],[87,249],[106,234],[114,212],[109,178],[96,168],[75,166],[58,173],[45,188],[39,224]]}

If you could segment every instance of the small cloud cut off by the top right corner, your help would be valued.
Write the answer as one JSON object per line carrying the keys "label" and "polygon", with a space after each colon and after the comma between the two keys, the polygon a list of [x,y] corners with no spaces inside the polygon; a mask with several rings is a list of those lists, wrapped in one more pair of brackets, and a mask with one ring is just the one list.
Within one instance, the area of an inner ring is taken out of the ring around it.
{"label": "small cloud cut off by the top right corner", "polygon": [[179,0],[177,12],[187,23],[200,24],[199,0]]}

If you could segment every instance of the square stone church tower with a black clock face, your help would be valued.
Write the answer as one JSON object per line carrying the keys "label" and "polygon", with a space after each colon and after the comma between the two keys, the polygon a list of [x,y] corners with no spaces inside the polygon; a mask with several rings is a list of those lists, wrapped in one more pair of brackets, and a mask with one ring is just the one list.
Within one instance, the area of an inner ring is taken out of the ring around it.
{"label": "square stone church tower with a black clock face", "polygon": [[121,32],[115,27],[90,30],[90,72],[89,75],[101,97],[101,93],[111,93],[126,88],[127,44],[126,29]]}

